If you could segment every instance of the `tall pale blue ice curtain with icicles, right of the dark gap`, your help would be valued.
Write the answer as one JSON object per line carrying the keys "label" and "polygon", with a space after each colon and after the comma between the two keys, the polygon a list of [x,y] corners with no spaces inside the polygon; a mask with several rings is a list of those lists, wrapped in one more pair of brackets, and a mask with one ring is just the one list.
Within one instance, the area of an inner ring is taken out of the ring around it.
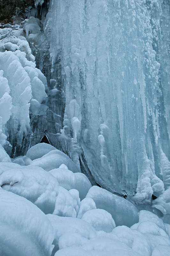
{"label": "tall pale blue ice curtain with icicles, right of the dark gap", "polygon": [[100,185],[138,202],[163,192],[169,168],[169,13],[161,0],[53,0],[44,23],[62,132]]}

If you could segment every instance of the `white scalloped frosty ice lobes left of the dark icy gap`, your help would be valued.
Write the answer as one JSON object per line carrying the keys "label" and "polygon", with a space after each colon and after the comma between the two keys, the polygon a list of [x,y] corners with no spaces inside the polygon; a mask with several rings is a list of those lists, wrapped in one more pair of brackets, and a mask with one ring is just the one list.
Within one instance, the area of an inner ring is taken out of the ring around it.
{"label": "white scalloped frosty ice lobes left of the dark icy gap", "polygon": [[[30,113],[36,115],[47,97],[47,79],[36,68],[22,33],[22,29],[11,28],[0,31],[0,35],[7,36],[0,41],[0,143],[8,145],[10,140],[12,146],[17,143],[20,148],[23,136],[31,134]],[[13,151],[15,155],[15,148]]]}

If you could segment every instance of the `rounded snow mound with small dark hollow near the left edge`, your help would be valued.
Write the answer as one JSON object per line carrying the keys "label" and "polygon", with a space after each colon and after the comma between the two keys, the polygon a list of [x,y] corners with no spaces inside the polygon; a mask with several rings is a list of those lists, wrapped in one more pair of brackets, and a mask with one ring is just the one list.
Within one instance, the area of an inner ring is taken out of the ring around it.
{"label": "rounded snow mound with small dark hollow near the left edge", "polygon": [[0,168],[0,186],[33,203],[46,191],[56,191],[59,185],[57,179],[41,167],[33,169],[14,163],[0,163]]}

